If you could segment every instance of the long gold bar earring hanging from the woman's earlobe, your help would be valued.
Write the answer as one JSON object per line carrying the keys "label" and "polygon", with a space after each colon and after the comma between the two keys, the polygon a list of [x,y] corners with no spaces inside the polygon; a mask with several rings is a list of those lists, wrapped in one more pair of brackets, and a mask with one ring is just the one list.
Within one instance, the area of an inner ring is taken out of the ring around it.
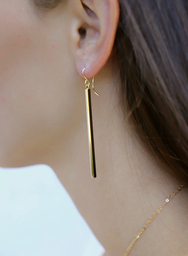
{"label": "long gold bar earring hanging from the woman's earlobe", "polygon": [[[96,178],[96,165],[95,165],[95,149],[93,140],[93,122],[92,122],[92,111],[91,111],[91,93],[90,93],[90,81],[85,77],[84,70],[82,74],[85,80],[85,99],[86,99],[86,112],[87,112],[87,129],[88,129],[88,139],[89,139],[89,152],[90,152],[90,167],[91,167],[91,178]],[[94,89],[94,76],[92,81],[93,91],[98,95]]]}

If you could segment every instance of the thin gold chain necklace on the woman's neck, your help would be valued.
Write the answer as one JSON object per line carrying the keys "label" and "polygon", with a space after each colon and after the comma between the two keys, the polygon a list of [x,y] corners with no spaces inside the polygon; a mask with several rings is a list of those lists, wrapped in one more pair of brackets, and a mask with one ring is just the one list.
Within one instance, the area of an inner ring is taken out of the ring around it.
{"label": "thin gold chain necklace on the woman's neck", "polygon": [[173,192],[171,194],[171,196],[169,198],[166,199],[166,201],[159,207],[159,209],[157,209],[157,211],[154,212],[154,214],[151,216],[151,218],[146,222],[146,224],[144,225],[144,227],[142,227],[142,229],[140,230],[140,232],[138,233],[138,235],[135,237],[135,239],[133,240],[133,242],[129,245],[127,251],[125,252],[124,256],[127,256],[129,254],[129,252],[131,251],[131,249],[133,248],[133,245],[135,244],[135,242],[137,241],[137,239],[140,237],[140,235],[145,231],[145,229],[150,225],[150,223],[152,222],[152,220],[154,219],[155,216],[157,216],[158,213],[160,213],[160,211],[163,209],[163,207],[170,201],[170,199],[172,197],[174,197],[180,190],[182,190],[185,187],[185,184],[181,185],[176,192]]}

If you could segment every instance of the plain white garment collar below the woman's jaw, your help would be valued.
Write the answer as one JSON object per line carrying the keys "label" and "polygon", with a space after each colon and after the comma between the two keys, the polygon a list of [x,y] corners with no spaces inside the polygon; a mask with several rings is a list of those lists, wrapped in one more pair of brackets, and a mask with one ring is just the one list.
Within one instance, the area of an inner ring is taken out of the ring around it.
{"label": "plain white garment collar below the woman's jaw", "polygon": [[0,256],[102,256],[54,171],[0,167]]}

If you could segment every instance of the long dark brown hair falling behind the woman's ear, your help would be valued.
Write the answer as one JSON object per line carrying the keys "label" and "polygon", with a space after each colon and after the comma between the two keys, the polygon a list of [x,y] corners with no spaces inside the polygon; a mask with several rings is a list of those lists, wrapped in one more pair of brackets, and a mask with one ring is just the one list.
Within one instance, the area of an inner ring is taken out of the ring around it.
{"label": "long dark brown hair falling behind the woman's ear", "polygon": [[126,118],[164,169],[188,184],[188,1],[119,2]]}

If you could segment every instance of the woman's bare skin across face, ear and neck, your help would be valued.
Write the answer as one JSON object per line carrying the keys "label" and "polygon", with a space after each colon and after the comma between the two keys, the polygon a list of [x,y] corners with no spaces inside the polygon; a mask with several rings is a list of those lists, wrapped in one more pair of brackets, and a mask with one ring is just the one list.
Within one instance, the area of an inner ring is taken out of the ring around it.
{"label": "woman's bare skin across face, ear and neck", "polygon": [[[60,3],[47,13],[31,1],[0,0],[0,165],[48,164],[72,197],[106,255],[123,255],[139,230],[181,185],[139,144],[123,120],[118,64],[110,57],[117,0]],[[80,39],[78,28],[86,28]],[[91,179],[85,80],[92,94],[97,178]],[[188,255],[188,191],[165,206],[131,252]]]}

